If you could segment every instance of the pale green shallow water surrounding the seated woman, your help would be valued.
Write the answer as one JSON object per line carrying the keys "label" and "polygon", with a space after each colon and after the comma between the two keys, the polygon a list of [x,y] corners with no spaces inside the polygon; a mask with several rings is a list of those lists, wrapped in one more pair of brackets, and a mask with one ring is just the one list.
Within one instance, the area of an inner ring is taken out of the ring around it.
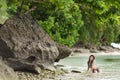
{"label": "pale green shallow water surrounding the seated woman", "polygon": [[64,68],[68,70],[80,70],[82,72],[80,80],[120,80],[120,55],[95,55],[95,57],[100,73],[86,71],[89,55],[65,58],[59,64],[65,65]]}

